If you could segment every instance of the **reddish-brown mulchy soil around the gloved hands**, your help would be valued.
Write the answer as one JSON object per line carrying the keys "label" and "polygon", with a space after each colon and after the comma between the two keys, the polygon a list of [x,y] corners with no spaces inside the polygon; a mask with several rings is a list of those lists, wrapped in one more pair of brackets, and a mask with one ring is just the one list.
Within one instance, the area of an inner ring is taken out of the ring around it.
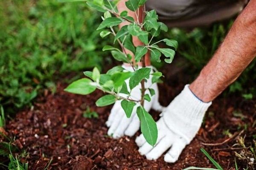
{"label": "reddish-brown mulchy soil around the gloved hands", "polygon": [[[159,84],[160,103],[164,106],[189,82],[189,75],[178,73],[173,76],[170,72],[169,69],[163,69],[165,83]],[[29,162],[31,170],[43,170],[51,159],[48,167],[50,170],[181,170],[189,166],[213,168],[212,163],[201,153],[201,147],[224,170],[234,170],[236,153],[245,155],[244,159],[236,157],[240,169],[246,168],[250,163],[248,158],[253,157],[247,147],[252,145],[253,133],[256,132],[255,99],[245,100],[238,95],[222,95],[215,99],[195,139],[186,146],[179,160],[171,164],[164,162],[163,156],[156,161],[148,161],[145,156],[140,156],[134,142],[140,132],[132,138],[125,136],[118,140],[107,136],[105,122],[112,106],[96,107],[95,101],[103,95],[101,91],[81,96],[64,92],[66,86],[59,82],[55,94],[45,91],[32,108],[20,111],[6,125],[6,132],[15,139],[14,144],[20,150],[26,148],[29,153],[24,160]],[[99,117],[84,118],[83,112],[87,107],[96,111]],[[159,119],[160,113],[151,111],[151,114],[155,120]],[[223,133],[227,130],[230,136],[237,136],[230,138]],[[239,136],[245,137],[246,147],[238,144]],[[248,169],[253,169],[253,166],[256,167],[252,164]]]}

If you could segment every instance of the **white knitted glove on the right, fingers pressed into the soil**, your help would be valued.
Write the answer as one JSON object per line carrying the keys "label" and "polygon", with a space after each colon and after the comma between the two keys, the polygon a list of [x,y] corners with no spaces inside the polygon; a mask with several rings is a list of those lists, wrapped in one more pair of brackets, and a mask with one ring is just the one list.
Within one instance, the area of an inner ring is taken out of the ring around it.
{"label": "white knitted glove on the right, fingers pressed into the soil", "polygon": [[149,160],[159,158],[167,149],[164,156],[166,162],[177,161],[184,147],[189,144],[198,132],[212,102],[202,102],[186,85],[183,91],[175,97],[169,106],[161,113],[157,121],[158,137],[154,147],[145,141],[141,134],[135,142],[140,147],[139,152]]}

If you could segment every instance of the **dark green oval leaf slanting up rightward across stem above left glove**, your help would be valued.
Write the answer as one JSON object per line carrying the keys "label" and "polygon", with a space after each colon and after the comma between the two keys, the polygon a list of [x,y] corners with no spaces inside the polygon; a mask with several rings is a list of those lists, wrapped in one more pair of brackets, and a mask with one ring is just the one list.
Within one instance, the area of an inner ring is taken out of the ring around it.
{"label": "dark green oval leaf slanting up rightward across stem above left glove", "polygon": [[151,68],[140,68],[139,70],[134,72],[134,75],[129,80],[130,89],[135,88],[141,80],[145,79],[149,76]]}

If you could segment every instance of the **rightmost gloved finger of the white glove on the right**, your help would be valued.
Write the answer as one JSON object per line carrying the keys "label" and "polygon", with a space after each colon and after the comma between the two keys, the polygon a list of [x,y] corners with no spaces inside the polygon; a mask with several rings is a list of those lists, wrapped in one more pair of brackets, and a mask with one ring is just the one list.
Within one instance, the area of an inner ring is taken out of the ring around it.
{"label": "rightmost gloved finger of the white glove on the right", "polygon": [[178,160],[180,153],[186,146],[186,141],[183,138],[177,139],[171,149],[164,156],[164,161],[173,163]]}

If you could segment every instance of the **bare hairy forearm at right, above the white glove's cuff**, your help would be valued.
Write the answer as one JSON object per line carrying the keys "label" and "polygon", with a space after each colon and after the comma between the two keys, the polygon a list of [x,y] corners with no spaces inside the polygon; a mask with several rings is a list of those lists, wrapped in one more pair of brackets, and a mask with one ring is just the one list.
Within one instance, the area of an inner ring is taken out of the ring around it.
{"label": "bare hairy forearm at right, above the white glove's cuff", "polygon": [[204,102],[215,99],[256,56],[256,0],[250,0],[191,91]]}

